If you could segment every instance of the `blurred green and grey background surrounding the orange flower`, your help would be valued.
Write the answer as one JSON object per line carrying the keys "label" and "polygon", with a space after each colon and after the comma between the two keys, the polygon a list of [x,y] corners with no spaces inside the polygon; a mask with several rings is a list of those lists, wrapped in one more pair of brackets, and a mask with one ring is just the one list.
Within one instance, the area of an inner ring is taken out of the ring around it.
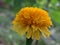
{"label": "blurred green and grey background surrounding the orange flower", "polygon": [[60,45],[60,0],[0,0],[0,45],[26,44],[26,37],[11,29],[15,14],[23,7],[42,8],[53,21],[52,35],[47,39],[41,37],[38,42],[34,40],[32,45]]}

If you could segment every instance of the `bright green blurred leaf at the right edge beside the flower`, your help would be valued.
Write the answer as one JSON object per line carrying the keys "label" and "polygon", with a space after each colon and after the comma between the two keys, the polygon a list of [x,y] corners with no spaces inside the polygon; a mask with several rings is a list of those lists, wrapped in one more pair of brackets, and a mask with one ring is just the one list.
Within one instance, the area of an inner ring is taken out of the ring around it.
{"label": "bright green blurred leaf at the right edge beside the flower", "polygon": [[50,16],[57,23],[56,25],[60,25],[60,11],[50,9]]}

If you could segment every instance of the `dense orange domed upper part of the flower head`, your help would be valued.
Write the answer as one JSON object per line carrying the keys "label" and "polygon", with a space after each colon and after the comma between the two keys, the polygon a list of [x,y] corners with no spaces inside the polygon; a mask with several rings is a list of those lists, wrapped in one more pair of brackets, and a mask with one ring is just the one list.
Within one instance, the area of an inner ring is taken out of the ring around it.
{"label": "dense orange domed upper part of the flower head", "polygon": [[39,8],[24,8],[16,16],[16,22],[24,26],[50,26],[52,23],[48,13]]}

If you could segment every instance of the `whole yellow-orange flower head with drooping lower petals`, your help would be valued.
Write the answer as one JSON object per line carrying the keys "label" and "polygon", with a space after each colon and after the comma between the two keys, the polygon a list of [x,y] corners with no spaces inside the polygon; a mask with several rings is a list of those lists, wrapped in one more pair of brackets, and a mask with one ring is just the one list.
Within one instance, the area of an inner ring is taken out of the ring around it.
{"label": "whole yellow-orange flower head with drooping lower petals", "polygon": [[22,8],[13,20],[13,30],[26,37],[39,40],[42,34],[45,38],[50,36],[48,28],[52,25],[48,12],[40,8]]}

